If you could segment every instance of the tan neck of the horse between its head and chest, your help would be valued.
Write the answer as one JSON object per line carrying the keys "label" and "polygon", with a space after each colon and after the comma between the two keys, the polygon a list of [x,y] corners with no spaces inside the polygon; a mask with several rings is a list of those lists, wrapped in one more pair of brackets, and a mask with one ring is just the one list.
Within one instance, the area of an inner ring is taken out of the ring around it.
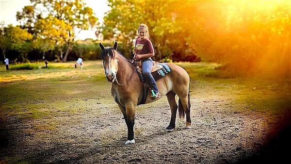
{"label": "tan neck of the horse between its head and chest", "polygon": [[125,57],[118,54],[118,71],[116,74],[116,78],[119,83],[127,83],[129,82],[132,73],[134,71],[134,68],[132,68],[132,65],[128,62]]}

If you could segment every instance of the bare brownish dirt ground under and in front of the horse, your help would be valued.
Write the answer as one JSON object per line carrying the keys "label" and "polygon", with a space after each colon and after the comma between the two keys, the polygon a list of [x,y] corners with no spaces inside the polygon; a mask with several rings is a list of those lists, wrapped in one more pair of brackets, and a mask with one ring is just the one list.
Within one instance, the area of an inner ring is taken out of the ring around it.
{"label": "bare brownish dirt ground under and in front of the horse", "polygon": [[[4,114],[0,120],[0,162],[237,164],[287,159],[290,113],[248,109],[245,104],[234,103],[223,89],[213,94],[203,82],[194,81],[193,85],[192,129],[184,129],[185,120],[177,118],[176,129],[165,131],[171,112],[164,97],[137,109],[136,144],[128,146],[124,145],[127,127],[110,96],[109,84],[102,95],[94,92],[91,98],[79,99],[87,104],[73,114],[56,110],[55,116],[38,119]],[[109,103],[103,103],[104,99]]]}

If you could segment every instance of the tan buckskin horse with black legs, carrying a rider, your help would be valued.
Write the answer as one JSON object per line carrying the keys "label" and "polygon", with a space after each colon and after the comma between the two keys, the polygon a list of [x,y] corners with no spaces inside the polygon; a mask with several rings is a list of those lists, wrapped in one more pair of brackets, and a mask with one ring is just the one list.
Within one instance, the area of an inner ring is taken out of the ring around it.
{"label": "tan buckskin horse with black legs, carrying a rider", "polygon": [[[125,145],[128,145],[135,143],[133,131],[134,119],[136,106],[144,96],[144,82],[140,81],[136,67],[117,51],[117,46],[117,42],[114,42],[113,47],[104,47],[102,43],[99,43],[105,76],[108,82],[112,82],[111,94],[120,108],[128,128],[128,140],[125,142]],[[171,74],[166,74],[163,78],[156,81],[161,97],[167,96],[171,108],[171,121],[166,130],[173,131],[175,129],[177,109],[180,118],[184,118],[186,113],[185,129],[190,129],[190,77],[186,70],[178,65],[172,63],[163,64],[172,69]],[[179,98],[178,105],[175,99],[176,95]],[[148,91],[145,104],[157,99],[160,98],[150,98],[150,91]]]}

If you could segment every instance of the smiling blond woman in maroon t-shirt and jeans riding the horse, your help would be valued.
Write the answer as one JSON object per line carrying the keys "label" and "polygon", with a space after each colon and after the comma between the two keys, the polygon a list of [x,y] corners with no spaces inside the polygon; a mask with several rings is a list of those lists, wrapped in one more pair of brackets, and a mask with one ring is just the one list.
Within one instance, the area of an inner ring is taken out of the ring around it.
{"label": "smiling blond woman in maroon t-shirt and jeans riding the horse", "polygon": [[151,59],[151,57],[155,56],[155,51],[153,44],[149,39],[148,27],[146,26],[146,24],[140,24],[137,33],[139,37],[135,41],[135,53],[133,59],[142,60],[142,70],[145,81],[155,93],[155,96],[153,95],[151,97],[153,99],[160,98],[161,95],[159,93],[156,81],[151,75],[151,69],[153,67],[153,60]]}

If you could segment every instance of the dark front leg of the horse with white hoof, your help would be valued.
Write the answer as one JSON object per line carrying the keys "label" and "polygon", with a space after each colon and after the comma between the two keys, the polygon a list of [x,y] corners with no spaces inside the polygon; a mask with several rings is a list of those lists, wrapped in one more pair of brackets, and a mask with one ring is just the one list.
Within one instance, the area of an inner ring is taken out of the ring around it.
{"label": "dark front leg of the horse with white hoof", "polygon": [[134,131],[133,131],[133,126],[134,126],[134,119],[135,119],[135,107],[136,105],[132,102],[127,103],[125,105],[126,107],[126,125],[128,127],[128,140],[125,142],[125,145],[129,144],[134,144]]}

